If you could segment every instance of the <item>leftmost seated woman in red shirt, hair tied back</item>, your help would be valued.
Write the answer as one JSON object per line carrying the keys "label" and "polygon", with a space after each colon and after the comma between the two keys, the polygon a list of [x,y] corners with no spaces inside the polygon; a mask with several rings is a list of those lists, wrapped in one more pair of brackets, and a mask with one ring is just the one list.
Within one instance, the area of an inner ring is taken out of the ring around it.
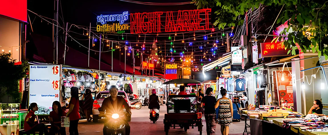
{"label": "leftmost seated woman in red shirt, hair tied back", "polygon": [[43,123],[34,122],[36,115],[34,114],[37,111],[38,105],[36,103],[31,103],[28,109],[28,113],[24,120],[24,130],[26,132],[39,132],[39,135],[48,135],[48,130]]}

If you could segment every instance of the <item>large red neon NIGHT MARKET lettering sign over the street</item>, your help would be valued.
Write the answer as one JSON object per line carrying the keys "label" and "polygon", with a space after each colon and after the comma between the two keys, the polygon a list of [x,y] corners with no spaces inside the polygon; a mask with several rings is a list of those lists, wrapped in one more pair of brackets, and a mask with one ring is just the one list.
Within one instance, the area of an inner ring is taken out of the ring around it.
{"label": "large red neon NIGHT MARKET lettering sign over the street", "polygon": [[151,13],[131,13],[131,33],[207,30],[210,27],[211,9],[179,10]]}

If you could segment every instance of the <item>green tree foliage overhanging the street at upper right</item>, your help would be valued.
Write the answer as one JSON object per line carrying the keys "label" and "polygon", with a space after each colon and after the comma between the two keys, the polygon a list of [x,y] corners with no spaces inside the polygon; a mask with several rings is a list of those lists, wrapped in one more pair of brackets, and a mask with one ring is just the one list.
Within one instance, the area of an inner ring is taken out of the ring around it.
{"label": "green tree foliage overhanging the street at upper right", "polygon": [[[296,50],[302,52],[311,50],[318,55],[328,58],[327,38],[327,0],[193,0],[197,8],[212,8],[216,18],[214,25],[219,28],[225,26],[242,25],[243,16],[247,11],[254,10],[260,5],[273,6],[282,9],[277,19],[277,24],[288,21],[276,41],[284,40],[285,49],[291,49],[293,55]],[[276,15],[272,15],[276,17]],[[274,23],[274,22],[272,22]],[[287,35],[287,37],[283,35]]]}

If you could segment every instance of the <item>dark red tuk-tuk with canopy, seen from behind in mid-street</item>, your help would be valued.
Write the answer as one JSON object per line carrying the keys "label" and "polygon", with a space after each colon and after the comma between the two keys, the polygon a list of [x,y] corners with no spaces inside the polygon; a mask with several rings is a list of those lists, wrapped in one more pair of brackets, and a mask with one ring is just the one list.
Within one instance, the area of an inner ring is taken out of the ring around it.
{"label": "dark red tuk-tuk with canopy, seen from behind in mid-street", "polygon": [[[200,83],[191,79],[174,79],[164,84],[188,84]],[[169,134],[170,127],[179,126],[187,131],[190,127],[197,127],[199,134],[202,134],[202,113],[198,110],[200,101],[196,95],[168,95],[167,114],[164,115],[164,131]]]}

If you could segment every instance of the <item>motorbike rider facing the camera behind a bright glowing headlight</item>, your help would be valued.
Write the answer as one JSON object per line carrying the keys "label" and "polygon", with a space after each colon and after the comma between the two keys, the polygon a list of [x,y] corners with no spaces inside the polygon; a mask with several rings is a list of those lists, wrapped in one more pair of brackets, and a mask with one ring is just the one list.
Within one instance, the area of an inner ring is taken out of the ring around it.
{"label": "motorbike rider facing the camera behind a bright glowing headlight", "polygon": [[[127,111],[127,115],[125,115],[126,118],[123,119],[125,123],[125,134],[130,135],[130,125],[128,121],[131,121],[131,119],[129,120],[129,116],[131,116],[131,108],[123,97],[117,96],[118,91],[116,85],[110,86],[109,91],[111,95],[104,99],[102,102],[101,110],[106,111],[108,114],[114,114],[117,112],[124,112],[125,109]],[[107,135],[106,125],[108,123],[109,122],[104,122],[104,135]]]}

